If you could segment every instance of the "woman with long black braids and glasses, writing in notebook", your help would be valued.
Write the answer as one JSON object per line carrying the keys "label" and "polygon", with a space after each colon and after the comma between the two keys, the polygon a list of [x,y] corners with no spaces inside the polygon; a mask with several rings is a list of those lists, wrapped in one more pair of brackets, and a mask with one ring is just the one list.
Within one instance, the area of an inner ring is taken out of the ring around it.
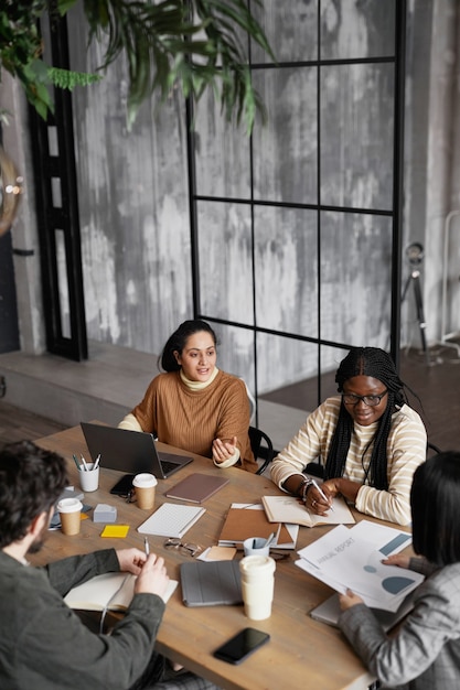
{"label": "woman with long black braids and glasses, writing in notebook", "polygon": [[[317,515],[341,494],[366,515],[410,521],[413,475],[424,462],[427,434],[407,401],[407,386],[378,347],[353,347],[335,374],[340,396],[328,398],[274,460],[271,478]],[[322,494],[308,475],[319,463]],[[324,498],[325,497],[325,498]]]}

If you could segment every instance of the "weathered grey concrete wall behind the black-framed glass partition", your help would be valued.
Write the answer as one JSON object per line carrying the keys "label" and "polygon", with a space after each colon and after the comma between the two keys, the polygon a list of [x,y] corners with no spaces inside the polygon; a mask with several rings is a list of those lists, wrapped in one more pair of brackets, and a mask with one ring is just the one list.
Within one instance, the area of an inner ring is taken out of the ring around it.
{"label": "weathered grey concrete wall behind the black-framed glass partition", "polygon": [[[459,36],[457,4],[454,0],[408,2],[405,237],[407,241],[421,241],[426,247],[422,280],[427,332],[431,342],[440,337],[446,216],[460,204],[460,58],[456,48]],[[271,0],[266,2],[266,7],[267,21],[272,22],[272,29],[278,29],[279,15],[276,12],[281,12],[284,21],[288,23],[292,19],[292,12],[301,12],[303,25],[307,26],[314,19],[317,3],[290,0],[289,4],[281,6]],[[331,0],[323,2],[322,7],[329,31],[328,50],[331,54],[335,50],[342,51],[342,54],[356,48],[361,54],[384,50],[385,46],[376,43],[379,33],[375,28],[382,25],[382,13],[388,12],[393,0],[372,0],[367,3],[355,0],[338,3]],[[73,21],[72,64],[75,68],[92,69],[100,55],[97,47],[89,53],[82,50],[86,37],[81,32],[81,24]],[[292,56],[292,51],[297,53],[296,60],[308,60],[309,51],[314,48],[314,32],[306,33],[301,31],[301,23],[290,22],[289,29],[279,31],[277,44],[285,60]],[[339,74],[334,78],[331,72],[330,84],[335,84],[330,89],[335,101],[328,104],[330,111],[327,114],[331,132],[336,126],[336,105],[345,106],[347,94],[352,94],[352,99],[368,99],[382,74],[372,75],[370,71],[354,74],[352,71],[341,79]],[[367,94],[364,84],[368,86]],[[385,108],[385,94],[389,93],[385,80],[381,80],[381,85],[383,100],[375,101],[375,112],[379,107]],[[295,74],[285,79],[285,83],[281,80],[277,85],[269,78],[261,86],[276,114],[268,130],[255,136],[255,145],[258,147],[256,191],[263,190],[281,201],[299,200],[304,203],[308,195],[314,192],[311,186],[314,185],[314,175],[309,177],[308,173],[314,151],[309,145],[308,134],[311,134],[311,128],[306,122],[311,109],[313,86],[308,84],[308,79],[299,82]],[[343,97],[336,100],[340,88],[343,89]],[[14,114],[11,128],[4,132],[4,143],[26,176],[26,192],[13,228],[13,244],[36,249],[33,188],[30,182],[32,177],[28,175],[31,165],[26,109],[22,94],[17,85],[10,84],[9,75],[2,75],[0,89],[2,106],[9,107]],[[288,96],[293,99],[291,103]],[[125,99],[126,76],[121,64],[114,66],[110,76],[101,84],[78,89],[74,95],[88,335],[95,341],[156,353],[175,325],[192,313],[183,103],[181,96],[174,91],[160,111],[157,111],[154,100],[146,104],[132,132],[128,133],[122,107]],[[280,103],[284,106],[281,108]],[[229,133],[223,127],[222,120],[215,116],[211,106],[203,117],[206,118],[206,123],[202,127],[199,139],[199,180],[212,193],[218,194],[220,190],[231,187],[232,194],[244,194],[247,188],[247,166],[242,164],[242,160],[247,157],[247,140],[239,134],[235,139],[235,133]],[[295,127],[289,133],[284,133],[282,126],[288,118],[295,120]],[[381,149],[384,141],[381,137],[384,132],[383,121],[382,118],[378,120],[381,129],[370,129],[367,132],[367,141],[375,137]],[[328,141],[324,142],[325,150],[330,151],[327,160],[333,161],[334,157],[343,155],[350,141],[354,141],[349,153],[354,157],[355,162],[359,161],[362,151],[353,150],[360,141],[359,138],[353,139],[354,131],[351,121],[349,128],[341,130],[341,139],[331,140],[329,144]],[[362,128],[357,127],[356,131],[362,131]],[[213,137],[210,138],[210,134]],[[221,142],[217,149],[216,140]],[[374,162],[371,159],[371,168],[363,171],[364,183],[360,182],[360,175],[345,185],[343,179],[334,183],[334,169],[331,165],[330,182],[323,193],[332,191],[333,195],[345,197],[349,203],[385,205],[389,181],[382,185],[379,175],[381,182],[373,186],[368,179],[370,172],[375,170],[379,160],[378,151],[376,155]],[[204,158],[206,164],[203,163]],[[210,161],[214,161],[212,165]],[[282,174],[278,174],[279,172]],[[378,202],[375,202],[375,194]],[[224,215],[221,213],[222,208],[214,215],[211,207],[205,211],[202,208],[202,299],[210,309],[217,306],[228,314],[235,310],[240,314],[250,308],[247,302],[247,283],[243,279],[245,271],[249,270],[249,249],[245,235],[248,226],[242,211],[235,204],[231,204]],[[299,332],[314,334],[318,322],[310,310],[310,302],[314,302],[315,297],[312,272],[315,270],[314,265],[306,270],[304,263],[300,261],[296,271],[290,270],[290,256],[296,257],[293,260],[298,260],[302,251],[306,256],[299,241],[301,229],[307,227],[306,220],[308,225],[308,214],[297,213],[296,216],[296,213],[284,214],[281,223],[276,213],[265,216],[263,212],[259,214],[259,227],[266,234],[259,235],[256,250],[256,268],[263,287],[257,295],[257,309],[263,321],[270,327],[274,324],[276,327],[285,327],[286,324],[288,328],[292,326],[297,315],[296,327]],[[297,227],[301,229],[297,230]],[[222,230],[217,242],[214,242],[214,228]],[[341,228],[338,218],[324,218],[324,236],[328,235],[328,228],[330,233],[336,234],[338,244],[331,255],[331,281],[325,281],[323,287],[322,327],[327,333],[335,334],[339,328],[340,337],[344,342],[354,342],[351,338],[355,337],[360,344],[365,341],[366,344],[386,346],[388,303],[384,295],[389,266],[388,240],[384,238],[388,237],[388,230],[375,223],[361,228],[352,223],[355,240],[350,244],[340,241],[341,235],[350,231],[350,228]],[[288,230],[292,231],[292,251],[286,241],[285,233]],[[459,230],[460,217],[454,217],[449,245],[449,331],[460,328],[459,268],[456,265]],[[372,233],[379,238],[378,256],[373,257],[368,250],[363,256],[362,238],[367,238],[367,247],[371,247]],[[330,237],[329,241],[332,242],[329,246],[333,246],[335,240]],[[307,240],[307,246],[311,252],[310,240]],[[332,277],[336,257],[342,255],[345,260],[334,282]],[[228,260],[232,265],[229,271]],[[43,349],[43,320],[36,252],[32,258],[17,258],[15,265],[21,344],[26,352],[40,353]],[[377,276],[375,266],[378,267]],[[324,276],[328,276],[327,270]],[[224,288],[225,295],[233,295],[234,299],[223,301],[220,297],[222,290],[216,290],[216,284]],[[355,304],[352,314],[349,310],[351,301]],[[248,314],[250,319],[250,309]],[[409,303],[405,308],[403,338],[418,345],[417,323],[414,308]],[[270,377],[271,386],[295,380],[302,362],[315,360],[315,349],[309,344],[296,341],[287,344],[285,338],[268,338],[264,335],[258,338],[257,352],[263,388],[268,386],[267,379]],[[253,354],[253,344],[247,332],[243,328],[225,332],[221,360],[224,368],[244,375],[252,381],[255,375]],[[332,366],[340,354],[340,351],[331,348],[324,364],[328,365],[329,362]],[[260,365],[263,356],[266,359]],[[277,368],[284,380],[272,380],[272,362],[284,363],[282,367]]]}

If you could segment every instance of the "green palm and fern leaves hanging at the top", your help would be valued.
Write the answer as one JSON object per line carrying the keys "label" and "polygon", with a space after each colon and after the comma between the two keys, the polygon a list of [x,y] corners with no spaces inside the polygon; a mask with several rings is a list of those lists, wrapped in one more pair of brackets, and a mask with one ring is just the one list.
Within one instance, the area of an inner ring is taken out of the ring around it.
{"label": "green palm and fern leaves hanging at the top", "polygon": [[[199,100],[212,87],[225,117],[244,119],[252,130],[264,105],[253,87],[242,36],[249,35],[275,60],[265,33],[245,0],[3,0],[0,9],[0,64],[23,85],[29,101],[46,118],[53,109],[49,86],[74,88],[103,78],[56,69],[43,62],[38,29],[45,12],[51,21],[76,4],[89,26],[89,41],[105,46],[104,72],[124,55],[128,64],[128,125],[153,91],[164,100],[180,86]],[[261,4],[260,0],[253,3]]]}

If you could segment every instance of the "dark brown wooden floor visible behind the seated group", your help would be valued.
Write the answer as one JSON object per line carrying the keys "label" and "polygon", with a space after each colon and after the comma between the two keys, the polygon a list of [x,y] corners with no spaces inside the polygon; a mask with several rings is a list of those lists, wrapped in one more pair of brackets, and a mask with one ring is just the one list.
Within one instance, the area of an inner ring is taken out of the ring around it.
{"label": "dark brown wooden floor visible behind the seated group", "polygon": [[[421,414],[431,443],[441,450],[460,450],[460,358],[456,349],[437,347],[429,353],[411,349],[402,353],[400,378],[419,398],[409,396],[410,405]],[[335,391],[333,376],[324,385],[324,397]],[[306,400],[311,395],[304,384],[275,391],[266,399],[300,409],[312,409]],[[39,439],[64,427],[44,417],[20,410],[0,400],[0,448],[23,439]],[[266,430],[269,434],[269,430]]]}

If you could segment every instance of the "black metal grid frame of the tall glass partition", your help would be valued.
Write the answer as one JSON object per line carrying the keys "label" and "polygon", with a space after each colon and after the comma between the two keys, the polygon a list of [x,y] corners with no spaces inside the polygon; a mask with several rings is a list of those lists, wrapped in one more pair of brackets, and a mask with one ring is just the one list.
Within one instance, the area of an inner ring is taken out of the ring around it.
{"label": "black metal grid frame of the tall glass partition", "polygon": [[[220,319],[215,314],[204,313],[201,309],[200,300],[200,261],[199,261],[199,224],[197,224],[197,204],[199,202],[221,202],[221,203],[237,203],[250,206],[252,217],[252,240],[253,240],[253,293],[255,291],[255,266],[254,266],[254,211],[257,206],[271,206],[284,208],[299,208],[299,209],[313,209],[317,212],[318,239],[321,235],[321,212],[332,211],[339,213],[357,213],[357,214],[372,214],[374,216],[387,216],[392,218],[392,295],[391,295],[391,354],[399,369],[399,338],[400,338],[400,292],[402,292],[402,246],[403,246],[403,174],[404,174],[404,104],[405,104],[405,50],[406,50],[406,0],[396,0],[395,2],[395,51],[393,56],[374,57],[374,58],[355,58],[355,60],[315,60],[308,62],[286,62],[278,65],[278,68],[289,67],[317,67],[318,69],[318,84],[320,83],[320,74],[322,66],[330,65],[350,65],[350,64],[376,64],[376,63],[389,63],[394,65],[395,75],[395,89],[394,89],[394,139],[393,139],[393,207],[391,211],[378,211],[371,208],[357,208],[345,206],[328,206],[321,203],[321,168],[320,157],[318,160],[318,203],[317,204],[297,204],[297,203],[282,203],[282,202],[266,202],[254,198],[254,147],[253,140],[249,147],[249,166],[250,166],[250,195],[249,198],[236,198],[236,197],[222,197],[222,196],[206,196],[200,195],[196,192],[196,174],[195,174],[195,137],[193,133],[193,120],[194,111],[190,103],[186,108],[188,119],[188,149],[189,149],[189,177],[190,177],[190,217],[191,217],[191,246],[192,246],[192,281],[193,281],[193,303],[194,315],[196,319],[204,319],[210,323],[222,324],[226,326],[235,326],[238,328],[245,328],[254,333],[254,360],[255,360],[255,396],[257,399],[257,333],[265,333],[268,335],[287,337],[304,343],[313,343],[318,346],[318,403],[322,401],[321,389],[321,347],[334,347],[341,349],[349,349],[350,344],[338,343],[327,341],[321,337],[319,319],[319,334],[318,337],[310,337],[306,335],[299,335],[296,333],[287,333],[271,328],[265,328],[257,325],[257,314],[254,313],[253,325],[239,323],[237,321],[231,321]],[[320,45],[320,12],[318,13],[318,45]],[[252,71],[264,69],[267,65],[252,64]],[[272,65],[270,65],[272,67]],[[317,128],[317,144],[318,151],[320,151],[320,88],[317,89],[318,98],[318,128]],[[318,242],[318,251],[320,252],[320,242]],[[320,256],[318,256],[318,262]],[[319,272],[320,281],[320,272]],[[256,301],[253,300],[254,312],[256,311]],[[318,291],[318,313],[321,312],[320,291]]]}

